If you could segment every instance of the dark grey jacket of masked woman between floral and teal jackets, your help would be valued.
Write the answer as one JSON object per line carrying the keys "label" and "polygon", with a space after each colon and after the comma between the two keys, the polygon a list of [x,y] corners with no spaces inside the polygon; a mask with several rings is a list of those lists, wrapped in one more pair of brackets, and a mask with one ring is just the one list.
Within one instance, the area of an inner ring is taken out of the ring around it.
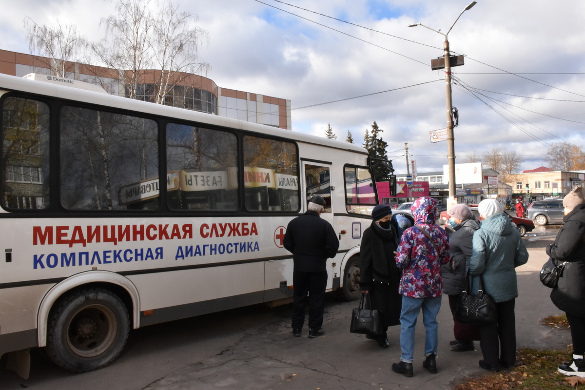
{"label": "dark grey jacket of masked woman between floral and teal jackets", "polygon": [[477,219],[466,219],[455,226],[455,232],[449,237],[451,261],[441,267],[443,294],[461,294],[463,281],[469,270],[469,259],[473,252],[473,233],[477,229],[479,229]]}

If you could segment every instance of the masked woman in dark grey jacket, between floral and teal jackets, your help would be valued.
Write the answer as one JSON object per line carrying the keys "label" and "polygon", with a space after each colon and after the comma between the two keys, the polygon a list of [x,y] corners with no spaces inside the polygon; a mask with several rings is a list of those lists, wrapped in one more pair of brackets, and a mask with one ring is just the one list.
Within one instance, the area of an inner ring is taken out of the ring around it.
{"label": "masked woman in dark grey jacket, between floral and teal jackets", "polygon": [[[451,350],[455,352],[473,351],[474,337],[479,335],[476,325],[457,322],[455,310],[459,295],[466,285],[465,276],[469,271],[469,259],[472,257],[473,233],[479,229],[479,221],[473,217],[469,206],[453,205],[449,209],[449,225],[455,232],[449,236],[451,259],[442,265],[443,294],[449,296],[449,308],[453,314],[453,333],[455,340],[450,342]],[[477,339],[476,339],[477,340]]]}

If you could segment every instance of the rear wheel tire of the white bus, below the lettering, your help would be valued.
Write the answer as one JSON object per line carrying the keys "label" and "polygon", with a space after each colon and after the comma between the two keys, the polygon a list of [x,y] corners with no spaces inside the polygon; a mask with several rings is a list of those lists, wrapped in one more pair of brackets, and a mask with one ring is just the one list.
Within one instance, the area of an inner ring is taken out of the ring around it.
{"label": "rear wheel tire of the white bus, below the lettering", "polygon": [[72,372],[97,370],[112,363],[128,339],[128,310],[118,296],[90,288],[64,296],[51,310],[47,355]]}

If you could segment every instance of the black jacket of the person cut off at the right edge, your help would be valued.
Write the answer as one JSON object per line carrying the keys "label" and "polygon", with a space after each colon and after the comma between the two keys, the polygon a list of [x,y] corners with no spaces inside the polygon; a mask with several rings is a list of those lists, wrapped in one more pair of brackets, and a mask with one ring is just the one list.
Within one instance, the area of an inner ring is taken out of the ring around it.
{"label": "black jacket of the person cut off at the right edge", "polygon": [[550,299],[563,312],[585,318],[585,203],[577,205],[563,221],[555,243],[546,248],[546,254],[569,263],[558,287],[550,292]]}

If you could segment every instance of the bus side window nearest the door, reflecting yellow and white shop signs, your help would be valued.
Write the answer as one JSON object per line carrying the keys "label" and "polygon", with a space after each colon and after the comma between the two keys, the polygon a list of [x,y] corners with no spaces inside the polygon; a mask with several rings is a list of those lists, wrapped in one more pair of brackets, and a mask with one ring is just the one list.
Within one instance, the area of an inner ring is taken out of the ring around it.
{"label": "bus side window nearest the door, reflecting yellow and white shop signs", "polygon": [[247,210],[297,211],[298,157],[294,143],[244,137]]}

